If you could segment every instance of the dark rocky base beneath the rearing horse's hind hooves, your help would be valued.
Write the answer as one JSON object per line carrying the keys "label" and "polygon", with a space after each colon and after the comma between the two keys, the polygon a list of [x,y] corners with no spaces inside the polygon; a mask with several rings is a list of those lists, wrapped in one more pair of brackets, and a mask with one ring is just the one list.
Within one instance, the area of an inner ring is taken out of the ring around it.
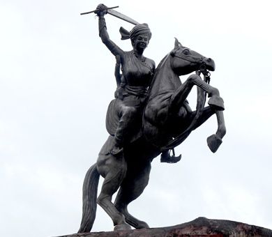
{"label": "dark rocky base beneath the rearing horse's hind hooves", "polygon": [[231,220],[211,220],[198,217],[191,222],[178,224],[173,227],[159,227],[150,229],[134,229],[130,231],[91,232],[84,234],[71,234],[59,237],[185,237],[185,236],[262,236],[271,237],[272,230],[255,225],[234,222]]}

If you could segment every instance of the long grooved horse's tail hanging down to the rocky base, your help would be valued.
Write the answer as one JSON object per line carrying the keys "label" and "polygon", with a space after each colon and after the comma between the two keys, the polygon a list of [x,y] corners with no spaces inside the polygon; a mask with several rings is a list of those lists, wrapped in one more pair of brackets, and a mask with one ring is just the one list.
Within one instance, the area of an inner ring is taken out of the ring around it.
{"label": "long grooved horse's tail hanging down to the rocky base", "polygon": [[100,174],[94,164],[86,173],[83,183],[82,221],[78,233],[90,232],[96,219],[96,199]]}

